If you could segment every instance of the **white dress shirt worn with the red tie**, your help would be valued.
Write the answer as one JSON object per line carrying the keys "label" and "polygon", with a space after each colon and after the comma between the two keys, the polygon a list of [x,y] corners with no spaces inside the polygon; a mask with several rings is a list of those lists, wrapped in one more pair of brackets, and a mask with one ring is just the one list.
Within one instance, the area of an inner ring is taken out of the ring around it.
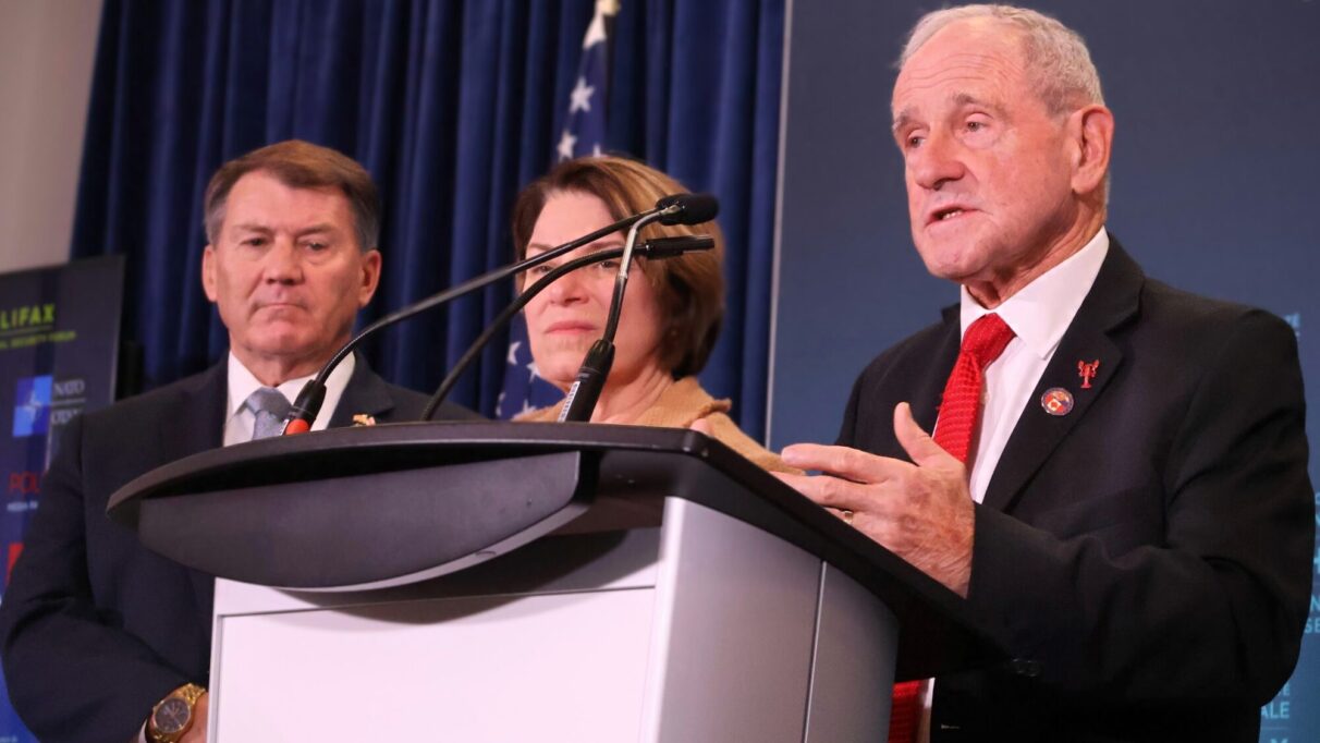
{"label": "white dress shirt worn with the red tie", "polygon": [[[982,307],[964,286],[961,321],[962,333],[990,313],[999,315],[1014,331],[1014,339],[1005,347],[985,372],[981,425],[977,429],[975,449],[969,457],[972,468],[969,490],[977,503],[985,500],[990,476],[1018,418],[1030,404],[1028,397],[1045,373],[1049,359],[1055,358],[1059,342],[1072,325],[1082,300],[1096,284],[1100,267],[1109,255],[1109,232],[1104,227],[1080,251],[1027,284],[998,307]],[[931,740],[931,703],[935,684],[923,689],[921,726],[917,740]]]}

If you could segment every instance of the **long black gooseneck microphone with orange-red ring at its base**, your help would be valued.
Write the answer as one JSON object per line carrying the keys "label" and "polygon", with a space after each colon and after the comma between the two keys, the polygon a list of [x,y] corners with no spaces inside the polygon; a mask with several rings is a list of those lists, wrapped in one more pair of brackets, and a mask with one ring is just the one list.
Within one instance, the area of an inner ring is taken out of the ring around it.
{"label": "long black gooseneck microphone with orange-red ring at its base", "polygon": [[[632,224],[635,224],[642,219],[656,218],[656,216],[665,219],[665,218],[675,218],[675,215],[681,215],[692,209],[686,202],[678,203],[678,199],[685,195],[689,194],[665,197],[659,202],[656,202],[656,206],[653,209],[648,209],[645,211],[626,216],[612,224],[606,224],[605,227],[601,227],[599,230],[589,235],[583,235],[576,240],[570,240],[568,243],[564,243],[562,245],[550,248],[549,251],[545,251],[544,253],[540,253],[537,256],[513,263],[511,265],[506,265],[503,268],[498,268],[495,271],[483,273],[482,276],[477,276],[474,278],[469,278],[467,281],[463,281],[457,286],[451,286],[449,289],[445,289],[444,292],[440,292],[425,300],[421,300],[420,302],[408,305],[407,307],[391,313],[378,319],[376,322],[368,325],[360,333],[358,333],[356,337],[345,343],[343,347],[339,348],[335,352],[335,355],[331,356],[329,362],[326,362],[323,367],[321,367],[321,371],[317,372],[315,377],[308,380],[308,383],[302,385],[302,389],[298,392],[298,397],[293,401],[293,405],[289,408],[289,416],[285,418],[284,424],[284,434],[290,436],[312,430],[312,422],[317,420],[317,413],[321,412],[321,405],[325,403],[326,379],[330,376],[330,372],[333,372],[334,368],[338,367],[339,363],[343,362],[343,359],[346,359],[348,354],[351,354],[352,350],[356,348],[364,339],[370,338],[371,335],[375,335],[381,329],[389,327],[396,322],[408,319],[418,313],[426,311],[432,307],[437,307],[445,302],[470,294],[502,278],[508,278],[510,276],[513,276],[520,271],[536,268],[537,265],[545,261],[554,260],[556,257],[566,252],[570,252],[573,249],[581,248],[587,243],[593,243],[595,240],[599,240],[601,238],[605,238],[606,235],[611,235],[614,232],[618,232],[619,230],[631,227]],[[714,201],[713,197],[711,201]]]}

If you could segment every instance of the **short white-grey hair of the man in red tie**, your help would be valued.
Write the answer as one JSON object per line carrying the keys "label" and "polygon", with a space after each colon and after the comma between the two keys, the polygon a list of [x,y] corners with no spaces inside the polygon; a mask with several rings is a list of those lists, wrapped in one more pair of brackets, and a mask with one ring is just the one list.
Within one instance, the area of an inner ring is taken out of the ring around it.
{"label": "short white-grey hair of the man in red tie", "polygon": [[1081,36],[1044,13],[1012,5],[961,5],[921,16],[903,46],[899,69],[941,29],[972,18],[993,18],[1022,34],[1031,82],[1051,115],[1063,116],[1082,106],[1105,104],[1100,73]]}

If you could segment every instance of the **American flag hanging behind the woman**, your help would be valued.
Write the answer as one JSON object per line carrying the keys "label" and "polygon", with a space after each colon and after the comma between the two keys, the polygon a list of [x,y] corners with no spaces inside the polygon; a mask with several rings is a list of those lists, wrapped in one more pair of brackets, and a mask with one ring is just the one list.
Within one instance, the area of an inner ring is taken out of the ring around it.
{"label": "American flag hanging behind the woman", "polygon": [[[619,11],[618,0],[597,0],[595,15],[582,40],[582,59],[578,62],[577,82],[569,92],[569,115],[554,148],[558,162],[601,154],[605,143],[605,83],[609,63],[609,21]],[[500,420],[554,405],[564,399],[557,387],[536,373],[532,348],[527,340],[527,323],[516,318],[510,327],[504,388],[499,395],[495,414]]]}

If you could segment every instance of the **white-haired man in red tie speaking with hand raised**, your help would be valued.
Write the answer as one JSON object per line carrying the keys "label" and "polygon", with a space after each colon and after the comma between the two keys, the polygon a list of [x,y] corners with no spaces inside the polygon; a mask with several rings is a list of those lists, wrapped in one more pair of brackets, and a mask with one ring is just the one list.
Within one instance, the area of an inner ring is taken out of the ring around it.
{"label": "white-haired man in red tie speaking with hand raised", "polygon": [[935,680],[891,740],[1254,742],[1311,589],[1291,329],[1146,278],[1109,236],[1113,116],[1057,21],[931,13],[892,108],[913,242],[961,306],[867,367],[838,446],[784,450],[825,474],[783,479],[1012,660]]}

